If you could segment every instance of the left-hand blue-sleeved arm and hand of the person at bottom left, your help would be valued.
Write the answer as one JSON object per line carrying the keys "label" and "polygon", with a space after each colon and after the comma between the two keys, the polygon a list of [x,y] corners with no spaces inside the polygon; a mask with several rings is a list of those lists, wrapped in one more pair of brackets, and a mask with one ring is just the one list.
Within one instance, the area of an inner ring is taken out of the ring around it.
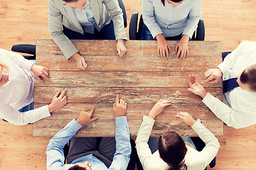
{"label": "left-hand blue-sleeved arm and hand of the person at bottom left", "polygon": [[95,107],[93,106],[93,108],[90,111],[82,111],[77,120],[71,120],[71,122],[68,123],[68,125],[66,125],[65,128],[63,128],[63,130],[60,130],[60,132],[58,132],[50,140],[46,150],[46,166],[48,170],[61,169],[64,166],[65,158],[63,147],[68,143],[71,137],[73,137],[76,134],[76,132],[78,132],[78,130],[82,128],[82,125],[97,120],[97,118],[91,118],[94,109]]}

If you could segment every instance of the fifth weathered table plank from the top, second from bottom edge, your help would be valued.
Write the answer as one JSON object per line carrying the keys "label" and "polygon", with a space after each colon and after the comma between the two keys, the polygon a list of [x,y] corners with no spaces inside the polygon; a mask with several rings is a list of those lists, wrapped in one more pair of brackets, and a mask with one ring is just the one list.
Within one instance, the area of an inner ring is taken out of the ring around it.
{"label": "fifth weathered table plank from the top, second from bottom edge", "polygon": [[[45,106],[46,103],[35,103],[34,108]],[[45,119],[62,120],[78,118],[81,111],[90,111],[92,106],[95,106],[93,117],[100,117],[102,119],[114,119],[112,113],[112,103],[67,103],[63,108],[52,113],[52,115]],[[127,104],[127,119],[142,119],[143,115],[148,115],[154,103],[128,103]],[[205,104],[188,104],[188,103],[172,103],[171,106],[167,106],[163,113],[156,117],[156,120],[166,119],[173,120],[175,115],[180,112],[188,112],[193,118],[205,119],[205,120],[219,120]],[[219,120],[221,121],[221,120]]]}

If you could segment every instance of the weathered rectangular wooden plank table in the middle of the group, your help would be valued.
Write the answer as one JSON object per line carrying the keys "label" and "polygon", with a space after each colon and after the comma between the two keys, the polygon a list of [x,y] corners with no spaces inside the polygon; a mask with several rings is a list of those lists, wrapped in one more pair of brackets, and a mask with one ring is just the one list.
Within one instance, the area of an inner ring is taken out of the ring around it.
{"label": "weathered rectangular wooden plank table in the middle of the group", "polygon": [[[188,89],[188,75],[196,74],[203,81],[206,69],[222,62],[220,42],[189,42],[189,57],[175,57],[176,41],[169,41],[170,56],[161,58],[156,52],[156,41],[127,40],[127,54],[116,55],[114,40],[73,40],[85,57],[85,71],[76,69],[75,60],[65,60],[53,40],[36,41],[36,64],[50,69],[50,79],[35,82],[34,107],[52,101],[58,90],[68,89],[68,104],[52,116],[33,124],[34,136],[53,136],[65,127],[80,111],[95,106],[93,116],[100,119],[78,131],[79,137],[114,136],[115,122],[112,104],[116,94],[127,102],[129,132],[136,136],[143,115],[147,115],[160,99],[171,99],[172,104],[156,117],[151,136],[171,130],[181,136],[196,136],[185,123],[174,119],[181,111],[200,118],[215,135],[223,135],[223,122],[208,109],[201,97]],[[222,99],[222,82],[204,85],[213,96]]]}

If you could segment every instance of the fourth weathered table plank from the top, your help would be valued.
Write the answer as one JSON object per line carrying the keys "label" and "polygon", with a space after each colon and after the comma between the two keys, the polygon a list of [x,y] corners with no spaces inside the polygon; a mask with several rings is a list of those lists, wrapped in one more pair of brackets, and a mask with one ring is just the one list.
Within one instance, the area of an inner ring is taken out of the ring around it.
{"label": "fourth weathered table plank from the top", "polygon": [[[114,103],[119,94],[127,103],[156,103],[169,98],[172,103],[202,104],[202,98],[188,88],[127,88],[127,87],[38,87],[34,89],[34,103],[50,103],[53,96],[68,89],[68,103]],[[221,88],[206,88],[210,94],[222,100]]]}

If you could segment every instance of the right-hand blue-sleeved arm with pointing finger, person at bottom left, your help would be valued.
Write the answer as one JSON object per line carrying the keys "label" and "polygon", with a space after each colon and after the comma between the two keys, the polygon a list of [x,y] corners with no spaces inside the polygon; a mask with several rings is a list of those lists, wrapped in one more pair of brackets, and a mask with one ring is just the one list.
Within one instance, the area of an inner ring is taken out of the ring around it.
{"label": "right-hand blue-sleeved arm with pointing finger, person at bottom left", "polygon": [[116,102],[113,104],[113,113],[116,120],[116,152],[109,169],[127,169],[129,164],[132,147],[129,141],[129,128],[125,112],[127,103],[122,99],[119,100],[119,95],[116,97]]}

